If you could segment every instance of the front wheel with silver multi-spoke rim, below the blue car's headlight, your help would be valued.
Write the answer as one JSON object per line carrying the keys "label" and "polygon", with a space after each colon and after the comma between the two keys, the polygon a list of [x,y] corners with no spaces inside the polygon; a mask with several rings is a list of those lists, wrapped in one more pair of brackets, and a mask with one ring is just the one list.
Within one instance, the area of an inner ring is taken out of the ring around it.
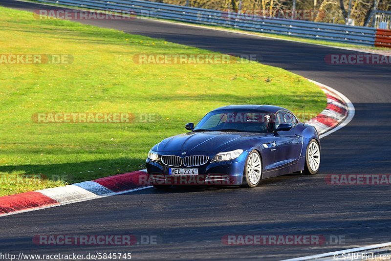
{"label": "front wheel with silver multi-spoke rim, below the blue car's headlight", "polygon": [[252,150],[248,154],[246,164],[244,166],[245,187],[255,188],[262,179],[262,160],[260,153]]}

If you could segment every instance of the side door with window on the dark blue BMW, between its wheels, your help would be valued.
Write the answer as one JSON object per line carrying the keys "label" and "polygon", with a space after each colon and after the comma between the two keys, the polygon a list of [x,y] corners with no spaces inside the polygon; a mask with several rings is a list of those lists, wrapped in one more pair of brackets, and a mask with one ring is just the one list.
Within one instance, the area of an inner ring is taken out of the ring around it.
{"label": "side door with window on the dark blue BMW, between its wheels", "polygon": [[275,129],[281,123],[292,126],[290,131],[278,131],[276,133],[276,167],[282,168],[299,160],[302,152],[303,137],[297,128],[298,121],[293,114],[288,111],[280,111],[276,117]]}

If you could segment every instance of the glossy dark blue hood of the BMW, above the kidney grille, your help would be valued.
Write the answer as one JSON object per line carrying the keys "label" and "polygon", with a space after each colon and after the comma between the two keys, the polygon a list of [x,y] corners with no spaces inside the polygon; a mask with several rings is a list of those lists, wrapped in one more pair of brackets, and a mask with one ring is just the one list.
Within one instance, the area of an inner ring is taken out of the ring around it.
{"label": "glossy dark blue hood of the BMW, above the kidney grille", "polygon": [[270,133],[254,132],[188,132],[164,139],[155,146],[157,152],[223,152],[242,148],[245,141]]}

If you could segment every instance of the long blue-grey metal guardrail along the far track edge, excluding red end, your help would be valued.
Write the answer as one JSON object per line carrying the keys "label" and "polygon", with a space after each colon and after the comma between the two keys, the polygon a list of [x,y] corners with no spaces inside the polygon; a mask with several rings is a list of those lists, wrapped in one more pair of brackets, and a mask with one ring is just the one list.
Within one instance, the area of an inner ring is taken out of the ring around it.
{"label": "long blue-grey metal guardrail along the far track edge, excluding red end", "polygon": [[142,0],[37,0],[65,6],[94,10],[132,11],[137,16],[168,19],[180,22],[217,25],[246,31],[271,33],[326,40],[339,43],[373,45],[376,30],[370,27],[308,22],[288,19],[271,19],[261,16],[250,18],[238,14],[185,7]]}

